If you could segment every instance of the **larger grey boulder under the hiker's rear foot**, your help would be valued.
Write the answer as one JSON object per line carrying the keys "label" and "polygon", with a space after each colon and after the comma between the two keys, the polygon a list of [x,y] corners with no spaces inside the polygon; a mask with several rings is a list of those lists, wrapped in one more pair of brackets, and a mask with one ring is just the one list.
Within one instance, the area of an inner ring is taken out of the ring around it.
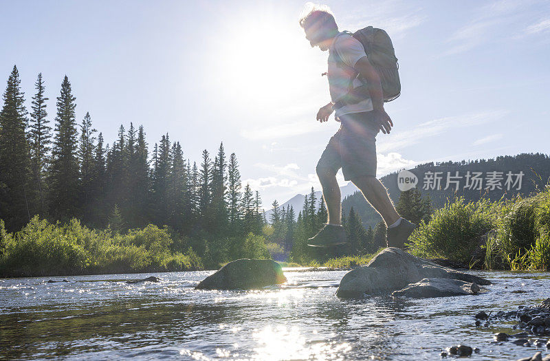
{"label": "larger grey boulder under the hiker's rear foot", "polygon": [[491,284],[484,278],[442,267],[392,247],[377,254],[368,265],[345,274],[336,294],[342,298],[390,294],[423,278],[451,278],[478,285]]}

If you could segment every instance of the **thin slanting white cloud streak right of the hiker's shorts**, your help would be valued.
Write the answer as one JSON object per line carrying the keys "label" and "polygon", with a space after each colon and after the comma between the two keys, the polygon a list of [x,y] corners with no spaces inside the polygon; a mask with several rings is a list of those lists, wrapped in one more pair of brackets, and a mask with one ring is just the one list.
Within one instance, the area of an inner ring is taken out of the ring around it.
{"label": "thin slanting white cloud streak right of the hiker's shorts", "polygon": [[388,151],[397,151],[406,146],[411,146],[423,142],[426,138],[440,135],[461,127],[472,127],[483,122],[491,122],[505,116],[507,111],[494,110],[483,111],[479,113],[470,113],[463,116],[453,116],[441,119],[430,120],[417,125],[414,129],[391,133],[388,137],[377,140],[377,150],[385,153]]}

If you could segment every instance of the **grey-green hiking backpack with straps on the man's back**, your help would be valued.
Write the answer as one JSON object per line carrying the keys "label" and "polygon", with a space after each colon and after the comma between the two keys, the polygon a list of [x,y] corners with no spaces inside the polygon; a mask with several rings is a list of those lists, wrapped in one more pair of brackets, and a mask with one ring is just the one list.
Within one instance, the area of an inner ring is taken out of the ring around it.
{"label": "grey-green hiking backpack with straps on the man's back", "polygon": [[[401,82],[399,81],[399,64],[395,57],[395,50],[391,43],[390,36],[382,29],[368,26],[358,30],[353,34],[346,32],[357,39],[365,48],[365,53],[369,57],[369,61],[376,69],[382,83],[382,91],[384,92],[384,102],[391,102],[401,94]],[[338,52],[334,52],[336,62],[343,65],[342,58]],[[338,102],[335,107],[338,109],[348,104],[357,104],[362,100],[369,98],[369,89],[366,84],[359,87],[353,87],[353,79],[358,78],[359,74],[353,69],[355,76],[349,83],[349,91]]]}

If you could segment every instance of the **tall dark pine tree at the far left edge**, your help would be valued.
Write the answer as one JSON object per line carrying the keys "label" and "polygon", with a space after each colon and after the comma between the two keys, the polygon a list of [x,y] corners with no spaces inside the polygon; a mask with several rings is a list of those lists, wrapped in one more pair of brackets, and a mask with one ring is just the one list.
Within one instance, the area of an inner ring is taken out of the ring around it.
{"label": "tall dark pine tree at the far left edge", "polygon": [[0,219],[8,230],[19,230],[30,220],[30,163],[25,135],[27,111],[19,71],[14,66],[0,111]]}

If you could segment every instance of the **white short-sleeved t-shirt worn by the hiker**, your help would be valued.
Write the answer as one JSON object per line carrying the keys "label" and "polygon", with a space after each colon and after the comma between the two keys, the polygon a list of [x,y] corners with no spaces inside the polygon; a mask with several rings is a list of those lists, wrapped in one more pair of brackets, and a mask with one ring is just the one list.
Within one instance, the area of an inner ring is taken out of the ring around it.
{"label": "white short-sleeved t-shirt worn by the hiker", "polygon": [[[342,58],[344,66],[338,64],[334,59],[334,48],[338,50],[338,55]],[[332,45],[329,47],[329,91],[331,93],[332,102],[338,102],[349,91],[349,82],[353,77],[355,63],[366,56],[363,45],[350,34],[341,32],[336,35]],[[361,80],[353,80],[353,87],[362,85]],[[366,98],[357,104],[344,105],[340,109],[336,109],[336,117],[343,116],[349,113],[363,113],[364,111],[373,110],[373,101],[371,98]]]}

